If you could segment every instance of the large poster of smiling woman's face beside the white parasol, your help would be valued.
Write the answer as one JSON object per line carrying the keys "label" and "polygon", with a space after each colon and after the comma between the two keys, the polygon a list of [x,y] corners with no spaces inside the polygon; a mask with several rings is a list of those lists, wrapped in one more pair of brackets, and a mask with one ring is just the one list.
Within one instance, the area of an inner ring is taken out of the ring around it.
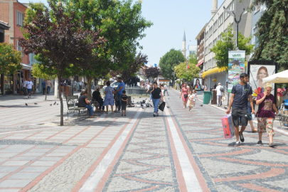
{"label": "large poster of smiling woman's face beside the white parasol", "polygon": [[[275,73],[275,65],[250,65],[249,82],[252,87],[252,96],[265,92],[263,78],[267,78]],[[274,83],[272,83],[274,90]]]}

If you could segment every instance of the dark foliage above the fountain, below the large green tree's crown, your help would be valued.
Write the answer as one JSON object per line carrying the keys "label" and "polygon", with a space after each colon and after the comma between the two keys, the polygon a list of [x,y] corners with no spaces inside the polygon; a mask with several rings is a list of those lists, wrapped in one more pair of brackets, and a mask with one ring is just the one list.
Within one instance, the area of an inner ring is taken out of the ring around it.
{"label": "dark foliage above the fountain, below the large green tree's crown", "polygon": [[139,71],[141,67],[144,66],[144,63],[148,62],[148,56],[142,54],[141,52],[135,56],[134,61],[132,63],[128,63],[124,68],[117,71],[111,71],[110,75],[116,77],[117,75],[121,75],[122,80],[126,82],[128,78],[132,78],[136,76],[136,73]]}

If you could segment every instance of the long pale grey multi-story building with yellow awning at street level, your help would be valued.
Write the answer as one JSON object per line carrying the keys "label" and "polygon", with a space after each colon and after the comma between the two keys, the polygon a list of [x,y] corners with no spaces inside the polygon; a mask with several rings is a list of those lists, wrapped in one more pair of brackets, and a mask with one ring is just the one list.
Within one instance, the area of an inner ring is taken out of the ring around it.
{"label": "long pale grey multi-story building with yellow awning at street level", "polygon": [[[204,32],[204,64],[202,77],[205,78],[205,83],[208,88],[213,87],[218,82],[221,82],[221,84],[225,86],[226,82],[228,82],[227,68],[218,68],[215,62],[215,53],[210,51],[210,48],[213,48],[217,41],[221,39],[221,33],[227,31],[228,26],[233,27],[234,33],[236,31],[234,17],[224,12],[223,6],[230,11],[234,11],[236,18],[239,19],[243,8],[246,9],[250,5],[250,1],[251,0],[240,3],[235,0],[225,0],[217,9],[218,1],[213,0],[213,9],[211,10],[212,18],[207,23]],[[251,31],[250,26],[251,14],[247,13],[242,15],[239,31],[248,37]],[[249,56],[247,58],[249,58]]]}

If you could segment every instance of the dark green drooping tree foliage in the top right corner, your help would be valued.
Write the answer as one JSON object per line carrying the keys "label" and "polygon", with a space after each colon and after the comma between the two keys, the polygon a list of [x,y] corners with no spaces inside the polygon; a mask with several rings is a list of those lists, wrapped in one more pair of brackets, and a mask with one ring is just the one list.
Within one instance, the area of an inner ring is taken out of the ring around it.
{"label": "dark green drooping tree foliage in the top right corner", "polygon": [[267,11],[256,23],[259,44],[252,59],[274,60],[281,70],[288,69],[288,0],[255,0],[250,10],[260,4],[265,4]]}

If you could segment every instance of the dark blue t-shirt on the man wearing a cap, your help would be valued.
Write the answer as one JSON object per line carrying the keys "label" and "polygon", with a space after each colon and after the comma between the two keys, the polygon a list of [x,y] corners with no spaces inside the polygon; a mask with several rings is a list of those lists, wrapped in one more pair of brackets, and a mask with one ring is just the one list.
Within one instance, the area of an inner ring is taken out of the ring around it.
{"label": "dark blue t-shirt on the man wearing a cap", "polygon": [[236,85],[233,85],[231,93],[235,94],[232,107],[234,109],[247,110],[247,99],[249,95],[252,95],[251,86],[237,83]]}

